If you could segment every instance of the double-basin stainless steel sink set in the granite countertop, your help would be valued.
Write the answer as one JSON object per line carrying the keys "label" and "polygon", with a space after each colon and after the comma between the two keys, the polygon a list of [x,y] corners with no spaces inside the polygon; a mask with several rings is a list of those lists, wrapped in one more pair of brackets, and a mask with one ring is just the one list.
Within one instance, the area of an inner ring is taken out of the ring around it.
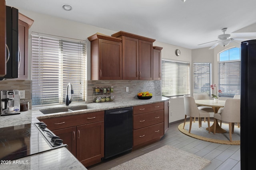
{"label": "double-basin stainless steel sink set in the granite countertop", "polygon": [[43,114],[51,114],[51,113],[61,113],[61,112],[72,112],[72,111],[84,110],[84,109],[92,109],[92,107],[88,107],[88,106],[69,106],[69,107],[41,109],[39,111],[41,111]]}

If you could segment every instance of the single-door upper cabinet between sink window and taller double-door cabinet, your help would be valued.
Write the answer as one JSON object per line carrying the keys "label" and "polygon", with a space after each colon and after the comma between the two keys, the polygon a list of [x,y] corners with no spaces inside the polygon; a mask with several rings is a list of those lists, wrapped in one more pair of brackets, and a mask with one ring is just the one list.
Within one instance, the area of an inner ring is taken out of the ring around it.
{"label": "single-door upper cabinet between sink window and taller double-door cabinet", "polygon": [[122,80],[122,39],[102,34],[91,42],[91,80]]}

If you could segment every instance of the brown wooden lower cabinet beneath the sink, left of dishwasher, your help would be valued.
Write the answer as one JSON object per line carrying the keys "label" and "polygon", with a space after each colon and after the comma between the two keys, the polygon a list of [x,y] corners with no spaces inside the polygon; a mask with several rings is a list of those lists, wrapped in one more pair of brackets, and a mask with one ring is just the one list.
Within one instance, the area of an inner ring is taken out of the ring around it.
{"label": "brown wooden lower cabinet beneath the sink, left of dishwasher", "polygon": [[104,157],[104,111],[40,119],[68,145],[68,150],[84,165]]}

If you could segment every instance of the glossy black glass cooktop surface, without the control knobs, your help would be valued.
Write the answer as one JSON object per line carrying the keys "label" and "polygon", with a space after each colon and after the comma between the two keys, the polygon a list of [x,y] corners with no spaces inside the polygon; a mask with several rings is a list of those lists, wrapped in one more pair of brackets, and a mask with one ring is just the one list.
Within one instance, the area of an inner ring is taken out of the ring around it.
{"label": "glossy black glass cooktop surface, without the control knobs", "polygon": [[51,149],[34,124],[0,128],[0,160],[15,160]]}

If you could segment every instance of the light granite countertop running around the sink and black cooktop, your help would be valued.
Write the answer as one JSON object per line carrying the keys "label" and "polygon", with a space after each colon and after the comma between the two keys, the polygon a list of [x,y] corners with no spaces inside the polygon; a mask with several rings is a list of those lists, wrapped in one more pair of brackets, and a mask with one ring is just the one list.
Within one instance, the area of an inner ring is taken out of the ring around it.
{"label": "light granite countertop running around the sink and black cooktop", "polygon": [[[28,124],[28,123],[36,123],[36,122],[39,122],[38,119],[42,119],[42,118],[61,117],[66,115],[90,113],[94,111],[104,111],[109,109],[139,106],[143,104],[163,102],[166,100],[169,100],[169,98],[162,97],[162,96],[158,96],[158,97],[154,96],[150,100],[139,100],[134,98],[134,99],[128,99],[123,101],[113,101],[113,102],[104,102],[104,103],[85,104],[81,102],[79,103],[73,102],[70,104],[70,106],[87,105],[91,108],[79,110],[79,111],[51,113],[51,114],[43,114],[42,112],[39,111],[39,109],[66,107],[66,106],[58,105],[58,106],[47,106],[47,107],[37,107],[37,108],[33,107],[32,110],[23,111],[18,115],[0,116],[0,128],[14,126],[14,125]],[[58,155],[61,157],[59,158],[57,156],[54,157],[54,155]],[[21,169],[21,170],[85,169],[86,170],[86,168],[65,147],[50,150],[48,152],[34,154],[31,156],[20,158],[18,160],[21,161],[18,164],[14,164],[15,162],[13,163],[13,161],[11,161],[11,164],[0,165],[0,167],[3,170],[9,170],[9,169]]]}

